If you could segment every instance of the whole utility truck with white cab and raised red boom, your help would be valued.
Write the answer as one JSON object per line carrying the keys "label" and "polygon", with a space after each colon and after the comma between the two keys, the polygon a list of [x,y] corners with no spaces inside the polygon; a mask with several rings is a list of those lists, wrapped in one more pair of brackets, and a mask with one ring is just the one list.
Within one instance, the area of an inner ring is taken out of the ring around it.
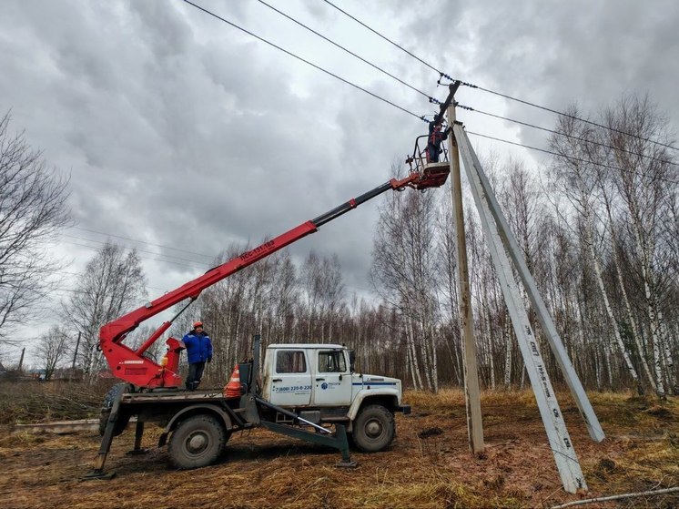
{"label": "whole utility truck with white cab and raised red boom", "polygon": [[[204,275],[167,292],[99,332],[99,346],[113,374],[123,382],[106,395],[102,408],[102,441],[94,468],[86,479],[109,477],[104,463],[114,436],[137,416],[135,448],[141,447],[145,422],[164,427],[159,446],[168,444],[177,468],[196,468],[213,463],[232,433],[256,427],[328,445],[342,455],[340,466],[352,466],[347,433],[364,452],[387,447],[395,433],[394,412],[410,412],[401,403],[401,383],[394,378],[357,373],[352,352],[337,344],[270,344],[259,383],[259,337],[252,358],[237,365],[224,391],[184,391],[178,374],[182,341],[169,338],[160,362],[145,352],[172,322],[198,299],[202,290],[302,239],[320,226],[355,209],[387,190],[438,188],[450,174],[447,165],[416,168],[406,178],[392,178],[316,219],[265,242]],[[182,302],[187,303],[137,349],[124,340],[142,321]],[[331,428],[334,427],[334,431]]]}

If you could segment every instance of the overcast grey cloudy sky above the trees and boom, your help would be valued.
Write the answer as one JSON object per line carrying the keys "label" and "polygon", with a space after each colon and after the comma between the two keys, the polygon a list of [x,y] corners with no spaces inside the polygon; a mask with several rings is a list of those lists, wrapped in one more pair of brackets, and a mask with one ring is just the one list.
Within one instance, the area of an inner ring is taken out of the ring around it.
{"label": "overcast grey cloudy sky above the trees and boom", "polygon": [[[257,0],[196,3],[417,115],[435,112],[425,97]],[[431,68],[322,0],[269,3],[445,97]],[[649,93],[679,126],[679,4],[671,0],[336,5],[461,80],[556,109],[576,102],[595,111],[625,93]],[[463,87],[457,98],[554,123],[478,90]],[[55,246],[72,262],[68,272],[82,270],[111,236],[140,250],[151,298],[198,276],[233,243],[258,244],[384,182],[426,128],[181,0],[5,0],[0,114],[9,109],[12,127],[71,176],[76,228]],[[544,147],[540,132],[468,112],[459,118],[470,131]],[[522,148],[472,142],[480,153],[540,164]],[[370,298],[377,201],[289,249],[297,260],[310,249],[337,253],[347,290]],[[66,274],[66,290],[73,277]]]}

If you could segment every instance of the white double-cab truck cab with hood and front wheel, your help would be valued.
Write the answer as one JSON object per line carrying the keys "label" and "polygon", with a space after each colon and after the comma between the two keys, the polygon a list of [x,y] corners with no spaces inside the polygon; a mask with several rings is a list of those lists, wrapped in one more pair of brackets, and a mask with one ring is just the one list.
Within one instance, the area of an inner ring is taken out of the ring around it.
{"label": "white double-cab truck cab with hood and front wheel", "polygon": [[346,422],[360,450],[383,450],[395,436],[399,379],[353,372],[353,352],[339,344],[270,344],[262,398],[317,424]]}

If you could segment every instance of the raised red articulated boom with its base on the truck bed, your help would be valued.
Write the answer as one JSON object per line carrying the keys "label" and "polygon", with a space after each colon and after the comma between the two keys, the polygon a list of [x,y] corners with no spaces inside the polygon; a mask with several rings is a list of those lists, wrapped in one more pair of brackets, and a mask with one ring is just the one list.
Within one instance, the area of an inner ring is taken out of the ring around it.
{"label": "raised red articulated boom with its base on the truck bed", "polygon": [[[116,321],[107,323],[99,331],[99,345],[106,356],[106,361],[111,368],[111,371],[117,378],[125,380],[126,382],[134,383],[139,387],[176,387],[181,383],[181,378],[177,375],[177,366],[179,362],[179,352],[183,350],[180,341],[174,338],[169,338],[167,342],[168,350],[164,360],[160,363],[151,361],[143,355],[163,332],[169,329],[172,321],[177,319],[179,314],[187,309],[187,307],[194,300],[198,299],[200,292],[206,288],[214,285],[220,280],[228,278],[231,274],[252,265],[258,260],[268,257],[270,254],[285,248],[292,242],[296,242],[310,233],[314,233],[320,226],[328,223],[333,219],[355,209],[361,203],[373,199],[385,191],[390,189],[401,190],[406,187],[424,189],[440,187],[448,173],[441,174],[441,171],[436,175],[411,173],[408,177],[397,180],[392,178],[389,182],[385,182],[381,186],[374,188],[367,193],[360,195],[355,199],[343,203],[335,209],[331,209],[325,214],[320,215],[316,219],[306,221],[299,226],[289,229],[282,235],[275,239],[264,242],[261,246],[239,255],[233,260],[228,260],[226,263],[219,265],[213,269],[208,270],[202,276],[195,280],[189,281],[177,290],[167,292],[162,297],[148,302],[145,306],[131,311],[126,315],[118,318]],[[170,321],[164,322],[137,350],[132,350],[123,344],[127,334],[134,331],[142,321],[157,315],[159,312],[167,310],[171,306],[176,305],[182,300],[190,299],[187,306],[180,310],[177,315]]]}

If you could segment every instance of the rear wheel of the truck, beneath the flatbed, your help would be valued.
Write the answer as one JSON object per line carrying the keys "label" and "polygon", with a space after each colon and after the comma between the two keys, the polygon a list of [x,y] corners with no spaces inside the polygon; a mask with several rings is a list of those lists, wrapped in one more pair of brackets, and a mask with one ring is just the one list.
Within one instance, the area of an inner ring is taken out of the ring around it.
{"label": "rear wheel of the truck, beneath the flatbed", "polygon": [[179,422],[170,437],[167,452],[177,468],[186,470],[214,463],[227,443],[227,432],[217,419],[194,415]]}

